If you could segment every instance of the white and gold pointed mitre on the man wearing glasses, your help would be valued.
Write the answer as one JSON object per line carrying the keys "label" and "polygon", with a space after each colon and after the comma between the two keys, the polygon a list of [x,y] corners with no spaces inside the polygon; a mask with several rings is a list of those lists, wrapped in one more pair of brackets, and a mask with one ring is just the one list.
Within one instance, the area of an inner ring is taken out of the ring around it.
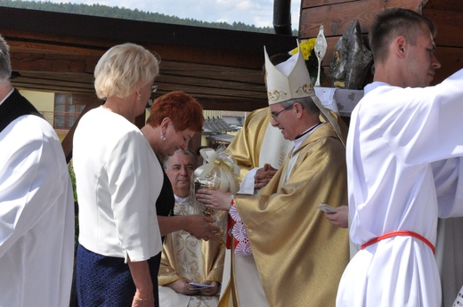
{"label": "white and gold pointed mitre on the man wearing glasses", "polygon": [[[297,48],[299,48],[299,44],[297,44]],[[305,67],[304,56],[300,48],[298,53],[277,66],[274,66],[270,61],[265,47],[264,54],[269,105],[290,99],[315,96],[309,71]]]}

